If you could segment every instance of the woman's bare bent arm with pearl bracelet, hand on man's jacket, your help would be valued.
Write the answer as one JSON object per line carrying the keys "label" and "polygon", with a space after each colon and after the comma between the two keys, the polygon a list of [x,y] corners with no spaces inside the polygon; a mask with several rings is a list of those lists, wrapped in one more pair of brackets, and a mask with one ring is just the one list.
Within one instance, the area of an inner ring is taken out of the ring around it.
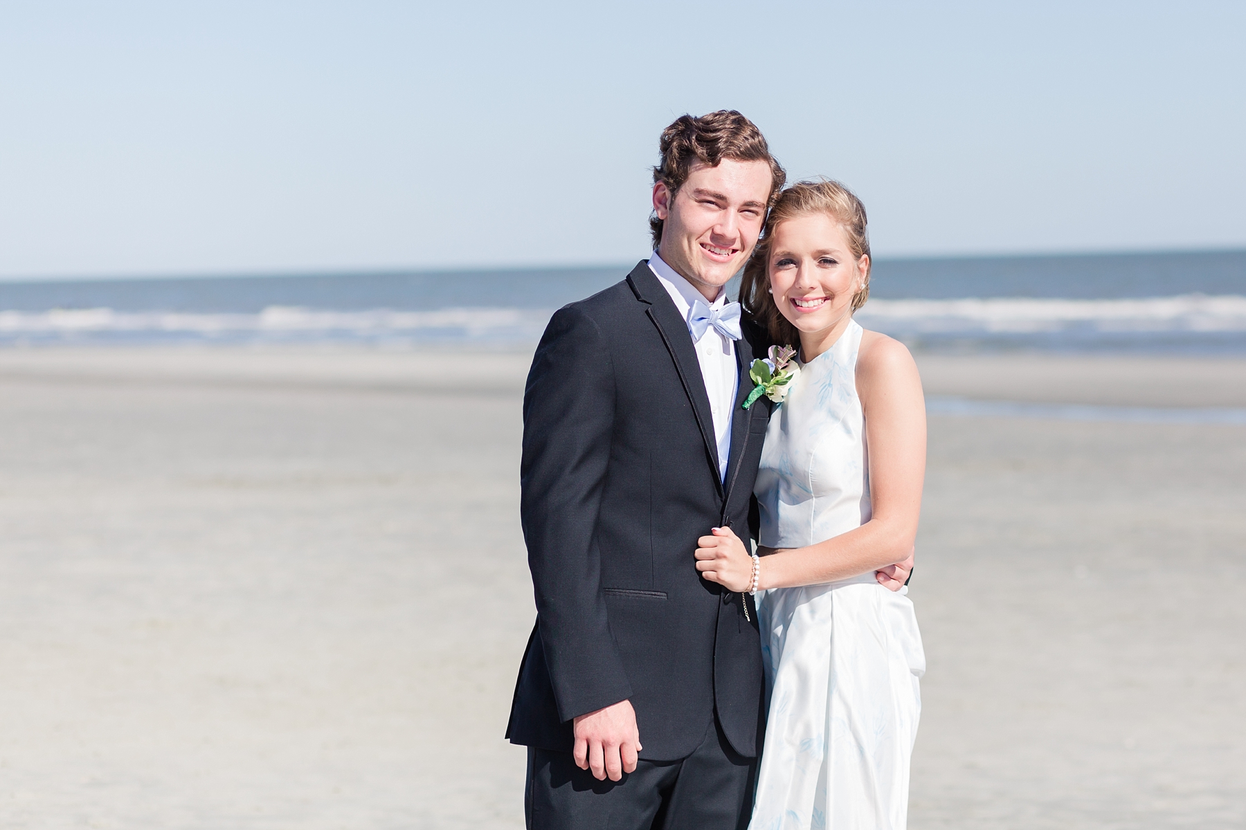
{"label": "woman's bare bent arm with pearl bracelet, hand on man's jacket", "polygon": [[[865,412],[873,513],[860,528],[761,560],[759,590],[819,585],[902,562],[913,550],[926,475],[926,402],[903,343],[867,331],[856,370]],[[729,529],[701,536],[697,569],[731,591],[749,590],[751,559]]]}

